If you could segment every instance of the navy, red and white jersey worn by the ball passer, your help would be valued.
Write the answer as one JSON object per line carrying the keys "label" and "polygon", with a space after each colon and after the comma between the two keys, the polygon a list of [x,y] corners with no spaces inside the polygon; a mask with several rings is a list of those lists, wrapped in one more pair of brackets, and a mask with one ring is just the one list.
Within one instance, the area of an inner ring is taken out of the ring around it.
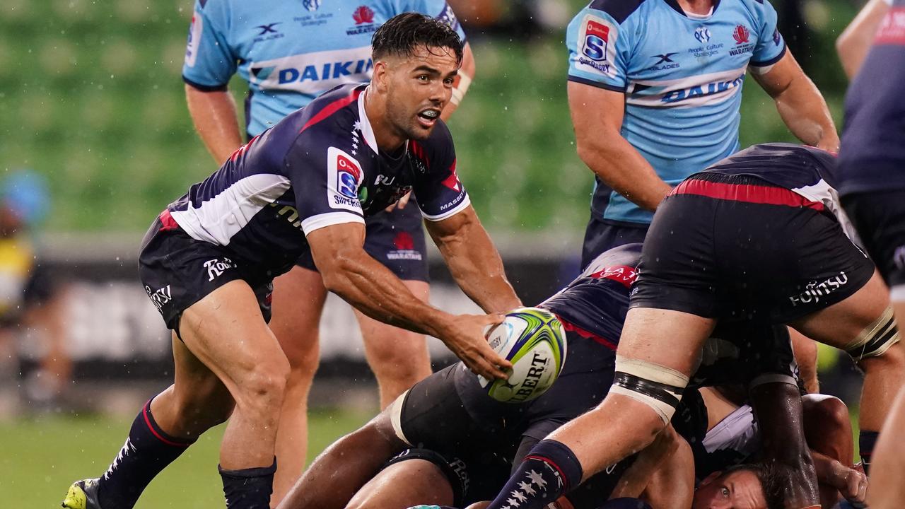
{"label": "navy, red and white jersey worn by the ball passer", "polygon": [[466,208],[443,121],[428,139],[387,154],[377,148],[366,95],[366,84],[341,85],[292,112],[167,206],[169,215],[195,240],[276,275],[309,248],[305,235],[364,223],[410,190],[431,221]]}

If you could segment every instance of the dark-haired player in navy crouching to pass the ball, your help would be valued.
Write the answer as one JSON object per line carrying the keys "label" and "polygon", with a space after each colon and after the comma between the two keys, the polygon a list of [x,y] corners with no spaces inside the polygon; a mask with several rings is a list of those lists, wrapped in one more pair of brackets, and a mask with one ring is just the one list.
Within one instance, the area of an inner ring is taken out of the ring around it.
{"label": "dark-haired player in navy crouching to pass the ball", "polygon": [[432,334],[504,378],[483,328],[500,315],[430,307],[362,249],[364,216],[414,189],[457,282],[487,312],[519,305],[455,174],[439,120],[462,61],[452,29],[400,14],[374,35],[374,78],[343,85],[255,137],[157,218],[139,274],[174,331],[172,386],[141,410],[110,469],[71,486],[71,509],[132,507],[206,429],[229,418],[220,473],[230,508],[269,507],[289,371],[267,327],[271,282],[310,250],[324,283],[362,312]]}

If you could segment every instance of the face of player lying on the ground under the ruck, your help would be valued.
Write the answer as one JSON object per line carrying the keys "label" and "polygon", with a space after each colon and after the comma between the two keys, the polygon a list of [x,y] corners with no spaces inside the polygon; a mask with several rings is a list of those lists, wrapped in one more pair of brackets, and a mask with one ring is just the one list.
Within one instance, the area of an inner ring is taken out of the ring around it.
{"label": "face of player lying on the ground under the ruck", "polygon": [[704,479],[691,509],[767,509],[767,499],[754,472],[737,470]]}

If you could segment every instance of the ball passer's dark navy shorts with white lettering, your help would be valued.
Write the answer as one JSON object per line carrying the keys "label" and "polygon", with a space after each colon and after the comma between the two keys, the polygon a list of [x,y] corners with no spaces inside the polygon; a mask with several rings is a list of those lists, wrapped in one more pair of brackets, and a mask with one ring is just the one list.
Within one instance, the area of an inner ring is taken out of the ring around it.
{"label": "ball passer's dark navy shorts with white lettering", "polygon": [[[168,211],[161,216],[168,217]],[[271,320],[273,276],[261,273],[222,245],[195,240],[170,218],[158,216],[141,241],[138,278],[151,303],[179,333],[179,319],[189,306],[236,279],[249,284],[265,322]]]}

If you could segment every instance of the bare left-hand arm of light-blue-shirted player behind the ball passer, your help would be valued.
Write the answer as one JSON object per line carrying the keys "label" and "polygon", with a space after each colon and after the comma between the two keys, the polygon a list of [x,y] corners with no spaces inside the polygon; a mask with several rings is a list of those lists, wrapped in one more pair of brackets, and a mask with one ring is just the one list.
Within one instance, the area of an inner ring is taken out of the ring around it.
{"label": "bare left-hand arm of light-blue-shirted player behind the ball passer", "polygon": [[223,164],[243,145],[233,96],[229,91],[200,91],[186,84],[186,103],[207,151],[217,164]]}

